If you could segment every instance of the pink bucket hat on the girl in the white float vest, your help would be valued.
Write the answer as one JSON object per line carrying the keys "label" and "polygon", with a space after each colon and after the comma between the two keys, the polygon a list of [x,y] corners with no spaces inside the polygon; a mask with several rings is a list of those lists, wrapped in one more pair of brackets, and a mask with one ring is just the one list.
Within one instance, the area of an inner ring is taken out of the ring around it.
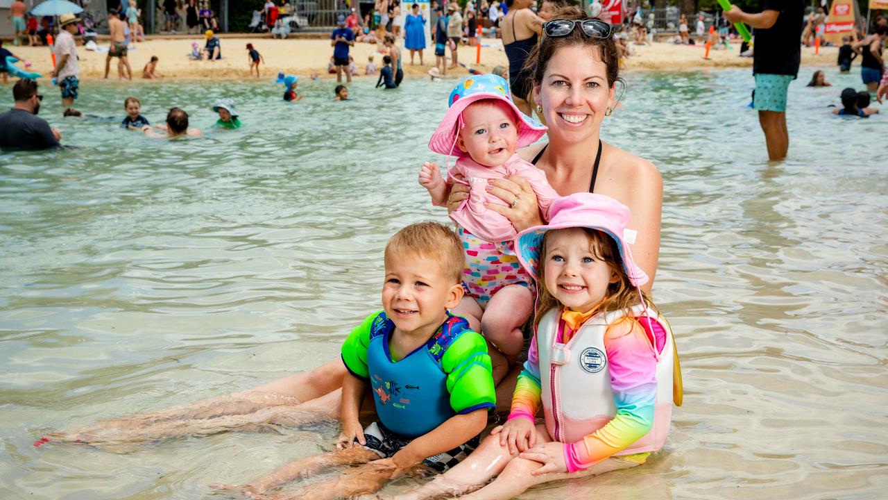
{"label": "pink bucket hat on the girl in the white float vest", "polygon": [[628,243],[635,242],[635,231],[629,224],[629,207],[614,198],[592,193],[575,193],[552,202],[548,224],[523,230],[515,237],[515,253],[524,269],[539,278],[540,250],[543,236],[549,230],[589,228],[606,232],[620,248],[623,269],[634,286],[647,283],[647,274],[632,259]]}

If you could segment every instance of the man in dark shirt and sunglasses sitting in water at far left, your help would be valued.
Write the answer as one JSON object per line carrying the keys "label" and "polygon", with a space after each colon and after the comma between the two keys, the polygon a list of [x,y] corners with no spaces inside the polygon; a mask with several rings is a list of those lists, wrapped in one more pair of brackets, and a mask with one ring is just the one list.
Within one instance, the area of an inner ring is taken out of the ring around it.
{"label": "man in dark shirt and sunglasses sitting in water at far left", "polygon": [[0,148],[58,148],[61,133],[36,117],[44,96],[37,93],[37,83],[22,78],[12,86],[15,107],[0,114]]}

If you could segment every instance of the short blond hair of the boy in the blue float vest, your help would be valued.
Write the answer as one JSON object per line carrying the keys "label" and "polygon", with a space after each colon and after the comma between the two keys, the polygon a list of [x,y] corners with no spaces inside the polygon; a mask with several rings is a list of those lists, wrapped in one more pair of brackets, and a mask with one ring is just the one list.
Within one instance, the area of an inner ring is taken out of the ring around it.
{"label": "short blond hair of the boy in the blue float vest", "polygon": [[465,257],[456,233],[438,222],[416,222],[396,232],[385,244],[385,258],[417,255],[438,262],[444,276],[459,283]]}

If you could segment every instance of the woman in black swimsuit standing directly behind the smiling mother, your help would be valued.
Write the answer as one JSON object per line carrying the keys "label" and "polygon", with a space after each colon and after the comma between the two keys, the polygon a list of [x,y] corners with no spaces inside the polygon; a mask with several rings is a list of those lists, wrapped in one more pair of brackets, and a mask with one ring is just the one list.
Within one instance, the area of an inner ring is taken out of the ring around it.
{"label": "woman in black swimsuit standing directly behind the smiling mother", "polygon": [[543,20],[530,6],[534,0],[507,0],[509,13],[500,20],[500,31],[503,34],[503,50],[509,58],[509,89],[511,99],[522,113],[530,114],[527,96],[530,93],[530,75],[524,70],[525,61],[530,51],[536,46],[536,40],[542,31]]}

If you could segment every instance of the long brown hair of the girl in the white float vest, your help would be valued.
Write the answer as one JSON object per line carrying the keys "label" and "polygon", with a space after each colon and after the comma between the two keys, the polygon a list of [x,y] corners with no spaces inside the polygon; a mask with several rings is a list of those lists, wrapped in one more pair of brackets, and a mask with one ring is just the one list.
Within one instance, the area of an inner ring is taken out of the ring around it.
{"label": "long brown hair of the girl in the white float vest", "polygon": [[[622,265],[620,248],[617,246],[614,238],[611,238],[607,233],[599,230],[591,230],[589,228],[577,229],[582,229],[583,233],[585,233],[586,235],[586,238],[589,239],[589,251],[591,252],[591,254],[594,255],[596,259],[606,262],[607,267],[613,270],[619,277],[616,283],[607,284],[605,298],[601,301],[601,303],[599,303],[598,306],[594,308],[595,313],[598,314],[601,311],[628,309],[638,303],[641,303],[639,301],[639,294],[641,297],[644,297],[645,302],[651,303],[644,292],[632,285],[632,282],[629,279],[629,275],[626,274],[626,268]],[[558,299],[552,296],[552,294],[549,293],[549,290],[546,289],[545,286],[544,262],[546,262],[548,239],[552,232],[553,231],[546,231],[546,234],[543,236],[542,248],[540,248],[539,283],[541,284],[541,286],[539,291],[539,299],[536,301],[534,327],[539,326],[540,319],[543,319],[543,314],[545,314],[546,311],[554,308],[560,309],[564,307],[564,304],[562,304],[561,302],[559,302]],[[653,306],[653,303],[651,303],[651,305]]]}

